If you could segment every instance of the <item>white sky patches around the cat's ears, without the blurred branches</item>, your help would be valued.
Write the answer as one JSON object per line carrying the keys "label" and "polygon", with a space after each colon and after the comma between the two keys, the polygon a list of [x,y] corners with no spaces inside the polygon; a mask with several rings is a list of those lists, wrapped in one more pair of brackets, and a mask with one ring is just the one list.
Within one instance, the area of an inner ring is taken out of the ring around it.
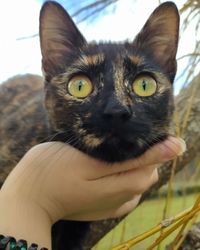
{"label": "white sky patches around the cat's ears, without the blurred branches", "polygon": [[[38,36],[20,39],[38,33],[38,19],[42,0],[0,0],[0,82],[17,74],[42,74],[41,54]],[[72,2],[65,2],[65,7],[73,12]],[[174,1],[182,7],[184,0]],[[86,39],[90,40],[132,40],[142,28],[148,16],[158,6],[158,0],[120,0],[115,11],[100,16],[94,22],[84,22],[78,25]],[[76,20],[75,20],[76,21]],[[178,56],[192,52],[195,44],[194,25],[181,36]],[[179,61],[179,76],[186,65],[187,59]],[[184,78],[176,83],[176,92]]]}

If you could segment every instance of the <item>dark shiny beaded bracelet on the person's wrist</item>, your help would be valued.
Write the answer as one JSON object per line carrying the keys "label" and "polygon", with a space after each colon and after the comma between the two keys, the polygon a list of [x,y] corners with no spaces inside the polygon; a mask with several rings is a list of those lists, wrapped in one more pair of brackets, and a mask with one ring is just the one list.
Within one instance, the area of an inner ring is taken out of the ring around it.
{"label": "dark shiny beaded bracelet on the person's wrist", "polygon": [[[16,241],[14,237],[4,236],[0,234],[0,250],[5,250],[7,246],[9,247],[8,248],[9,250],[39,250],[38,245],[35,243],[32,243],[29,246],[29,248],[27,248],[28,245],[26,240]],[[48,250],[48,249],[42,247],[40,248],[40,250]]]}

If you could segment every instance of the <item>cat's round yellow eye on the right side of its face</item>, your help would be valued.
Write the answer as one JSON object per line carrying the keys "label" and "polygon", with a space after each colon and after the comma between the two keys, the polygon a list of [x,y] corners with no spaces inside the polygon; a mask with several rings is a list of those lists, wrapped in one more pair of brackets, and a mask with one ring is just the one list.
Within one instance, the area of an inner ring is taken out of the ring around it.
{"label": "cat's round yellow eye on the right side of its face", "polygon": [[151,96],[156,92],[157,83],[151,76],[139,76],[134,80],[132,89],[138,96]]}

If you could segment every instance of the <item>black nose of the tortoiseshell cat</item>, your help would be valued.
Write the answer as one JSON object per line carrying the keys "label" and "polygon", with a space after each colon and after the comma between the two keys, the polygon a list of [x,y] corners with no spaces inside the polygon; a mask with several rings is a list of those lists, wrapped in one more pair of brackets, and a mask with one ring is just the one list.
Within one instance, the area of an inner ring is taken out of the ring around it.
{"label": "black nose of the tortoiseshell cat", "polygon": [[103,111],[103,118],[107,121],[121,122],[128,120],[130,117],[131,111],[129,108],[117,101],[107,103]]}

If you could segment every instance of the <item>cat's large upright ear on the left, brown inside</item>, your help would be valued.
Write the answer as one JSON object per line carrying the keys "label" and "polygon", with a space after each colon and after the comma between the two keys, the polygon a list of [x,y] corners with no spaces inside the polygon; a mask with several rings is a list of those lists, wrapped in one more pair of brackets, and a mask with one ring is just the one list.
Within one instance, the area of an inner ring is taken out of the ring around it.
{"label": "cat's large upright ear on the left, brown inside", "polygon": [[86,44],[65,9],[54,1],[47,1],[40,12],[40,46],[42,65],[46,75],[53,76],[65,68],[70,54],[76,54]]}

